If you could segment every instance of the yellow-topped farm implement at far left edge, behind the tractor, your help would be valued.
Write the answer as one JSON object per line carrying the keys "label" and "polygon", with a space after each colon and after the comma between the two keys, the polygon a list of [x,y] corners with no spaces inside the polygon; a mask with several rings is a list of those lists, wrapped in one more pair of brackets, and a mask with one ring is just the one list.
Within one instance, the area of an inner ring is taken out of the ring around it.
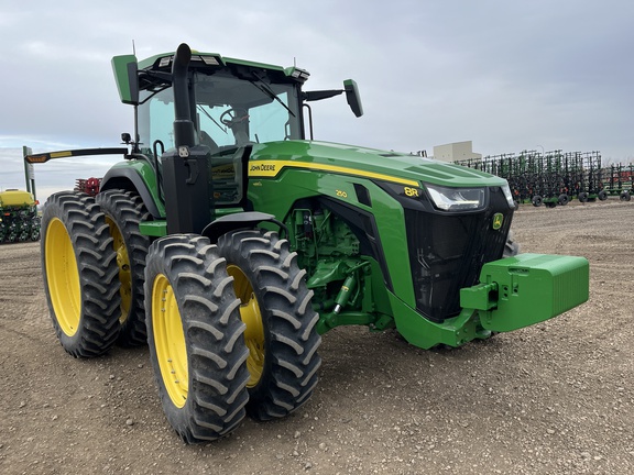
{"label": "yellow-topped farm implement at far left edge, behind the tractor", "polygon": [[39,239],[40,217],[33,195],[18,189],[0,192],[0,244]]}

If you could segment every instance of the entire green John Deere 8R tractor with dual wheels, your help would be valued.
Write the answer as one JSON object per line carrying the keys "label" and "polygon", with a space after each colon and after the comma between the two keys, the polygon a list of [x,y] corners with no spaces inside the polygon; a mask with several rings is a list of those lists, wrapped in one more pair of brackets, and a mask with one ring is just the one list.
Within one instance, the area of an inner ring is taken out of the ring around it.
{"label": "entire green John Deere 8R tractor with dual wheels", "polygon": [[304,91],[304,69],[185,44],[112,65],[134,135],[101,151],[124,159],[95,198],[47,200],[46,297],[76,357],[147,342],[165,415],[188,443],[304,405],[320,335],[339,325],[460,346],[588,299],[582,257],[502,258],[515,254],[504,179],[314,141],[309,102],[345,93],[362,114],[352,80]]}

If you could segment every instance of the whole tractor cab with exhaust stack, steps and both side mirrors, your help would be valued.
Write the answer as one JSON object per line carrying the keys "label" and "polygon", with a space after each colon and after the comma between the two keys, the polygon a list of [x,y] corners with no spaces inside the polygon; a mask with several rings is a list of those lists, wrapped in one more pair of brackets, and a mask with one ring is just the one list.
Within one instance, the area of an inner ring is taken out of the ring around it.
{"label": "whole tractor cab with exhaust stack, steps and both side mirrors", "polygon": [[[353,80],[304,92],[304,69],[193,53],[187,45],[141,63],[116,56],[112,65],[121,101],[136,111],[129,158],[156,170],[168,232],[200,232],[219,217],[248,211],[253,146],[305,139],[306,102],[346,92],[362,114]],[[308,129],[311,139],[310,120]]]}

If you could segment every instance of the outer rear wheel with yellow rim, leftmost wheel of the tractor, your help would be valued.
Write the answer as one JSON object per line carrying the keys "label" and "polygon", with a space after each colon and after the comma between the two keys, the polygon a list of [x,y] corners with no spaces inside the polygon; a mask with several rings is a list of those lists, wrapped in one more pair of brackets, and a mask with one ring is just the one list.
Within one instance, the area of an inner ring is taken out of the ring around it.
{"label": "outer rear wheel with yellow rim, leftmost wheel of the tractor", "polygon": [[99,356],[119,334],[119,280],[112,238],[95,200],[52,195],[42,214],[42,273],[53,327],[75,357]]}

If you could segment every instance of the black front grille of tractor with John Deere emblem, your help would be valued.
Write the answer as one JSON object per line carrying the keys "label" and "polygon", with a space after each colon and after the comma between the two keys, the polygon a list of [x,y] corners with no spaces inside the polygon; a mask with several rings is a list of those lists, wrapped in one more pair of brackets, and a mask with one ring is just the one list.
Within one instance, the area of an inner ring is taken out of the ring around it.
{"label": "black front grille of tractor with John Deere emblem", "polygon": [[[500,188],[488,195],[487,208],[472,213],[405,208],[416,308],[431,321],[460,313],[460,289],[478,284],[482,265],[502,257],[513,210]],[[498,212],[504,222],[493,230]]]}

